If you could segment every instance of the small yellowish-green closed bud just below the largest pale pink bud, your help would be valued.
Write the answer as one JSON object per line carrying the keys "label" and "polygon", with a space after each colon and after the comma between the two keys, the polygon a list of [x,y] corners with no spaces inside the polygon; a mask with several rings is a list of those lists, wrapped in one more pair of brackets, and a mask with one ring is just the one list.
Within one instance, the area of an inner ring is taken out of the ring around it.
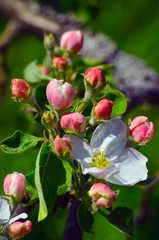
{"label": "small yellowish-green closed bud just below the largest pale pink bud", "polygon": [[48,128],[53,129],[57,126],[58,117],[55,111],[45,111],[42,119],[42,123]]}

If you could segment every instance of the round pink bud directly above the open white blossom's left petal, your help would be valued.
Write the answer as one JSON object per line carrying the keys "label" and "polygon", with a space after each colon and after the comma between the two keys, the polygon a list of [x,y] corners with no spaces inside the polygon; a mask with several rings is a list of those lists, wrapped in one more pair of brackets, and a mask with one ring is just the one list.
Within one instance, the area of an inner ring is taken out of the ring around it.
{"label": "round pink bud directly above the open white blossom's left petal", "polygon": [[85,116],[79,112],[66,113],[62,116],[60,124],[67,133],[80,134],[84,133],[87,120]]}

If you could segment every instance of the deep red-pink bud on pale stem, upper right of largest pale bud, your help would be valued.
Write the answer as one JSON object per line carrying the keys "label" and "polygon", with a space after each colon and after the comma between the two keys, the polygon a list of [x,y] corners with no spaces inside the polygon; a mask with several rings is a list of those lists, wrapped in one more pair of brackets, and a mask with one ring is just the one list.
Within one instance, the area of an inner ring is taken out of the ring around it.
{"label": "deep red-pink bud on pale stem, upper right of largest pale bud", "polygon": [[104,72],[99,67],[90,68],[85,74],[86,84],[88,83],[95,91],[99,91],[106,85]]}

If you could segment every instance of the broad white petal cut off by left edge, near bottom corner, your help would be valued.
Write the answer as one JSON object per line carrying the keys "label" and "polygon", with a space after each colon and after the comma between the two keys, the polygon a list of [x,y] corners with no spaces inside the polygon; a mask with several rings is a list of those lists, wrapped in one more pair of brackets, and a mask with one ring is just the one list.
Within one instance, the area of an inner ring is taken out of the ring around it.
{"label": "broad white petal cut off by left edge, near bottom corner", "polygon": [[10,218],[10,207],[6,199],[0,197],[0,224],[6,223]]}

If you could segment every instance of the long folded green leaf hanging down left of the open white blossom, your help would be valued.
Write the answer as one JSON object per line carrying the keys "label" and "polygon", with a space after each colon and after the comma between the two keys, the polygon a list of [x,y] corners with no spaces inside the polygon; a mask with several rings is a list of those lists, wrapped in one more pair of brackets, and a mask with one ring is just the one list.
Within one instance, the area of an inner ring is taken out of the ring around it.
{"label": "long folded green leaf hanging down left of the open white blossom", "polygon": [[62,162],[53,154],[51,146],[44,142],[39,151],[35,167],[35,184],[39,195],[38,221],[47,217],[52,209],[58,186],[66,181]]}

